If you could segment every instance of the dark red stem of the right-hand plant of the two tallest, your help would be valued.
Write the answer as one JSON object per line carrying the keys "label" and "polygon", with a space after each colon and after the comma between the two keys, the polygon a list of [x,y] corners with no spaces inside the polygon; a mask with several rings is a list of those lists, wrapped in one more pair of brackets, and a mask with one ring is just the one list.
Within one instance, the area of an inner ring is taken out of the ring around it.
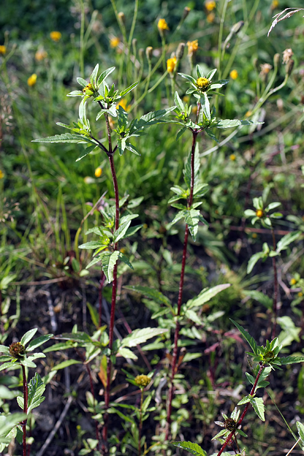
{"label": "dark red stem of the right-hand plant of the two tallest", "polygon": [[[198,132],[192,132],[192,148],[191,148],[191,184],[190,184],[190,195],[187,201],[187,207],[190,208],[193,203],[193,191],[194,191],[194,154],[195,154],[195,145],[197,140]],[[188,236],[189,236],[189,227],[186,224],[185,226],[185,236],[183,243],[182,251],[182,261],[181,261],[181,272],[179,279],[179,289],[178,289],[178,299],[177,299],[177,317],[180,316],[180,309],[182,303],[182,291],[185,275],[185,265],[186,265],[186,254],[187,254],[187,245],[188,245]],[[174,332],[174,343],[173,343],[173,356],[172,356],[172,370],[171,370],[171,385],[169,389],[168,397],[168,410],[167,410],[167,426],[166,426],[166,436],[165,440],[168,440],[170,433],[170,424],[171,424],[171,413],[172,413],[172,399],[173,399],[173,381],[176,374],[176,363],[177,363],[177,354],[178,354],[178,339],[179,339],[179,322],[176,321],[175,332]]]}

